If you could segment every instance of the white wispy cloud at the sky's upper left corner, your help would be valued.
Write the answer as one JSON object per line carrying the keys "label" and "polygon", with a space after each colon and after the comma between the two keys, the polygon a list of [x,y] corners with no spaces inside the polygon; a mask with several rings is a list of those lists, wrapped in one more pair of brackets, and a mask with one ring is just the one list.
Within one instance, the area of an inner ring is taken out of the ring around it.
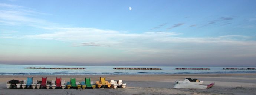
{"label": "white wispy cloud at the sky's upper left corner", "polygon": [[44,19],[35,18],[38,15],[49,15],[37,12],[23,6],[0,3],[0,24],[2,25],[49,25],[53,24]]}

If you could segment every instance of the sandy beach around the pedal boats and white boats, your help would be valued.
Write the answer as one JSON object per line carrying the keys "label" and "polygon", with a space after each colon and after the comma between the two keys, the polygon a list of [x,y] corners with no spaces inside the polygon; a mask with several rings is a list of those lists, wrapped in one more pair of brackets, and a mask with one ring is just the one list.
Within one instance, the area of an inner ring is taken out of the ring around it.
{"label": "sandy beach around the pedal boats and white boats", "polygon": [[[106,80],[123,80],[127,84],[125,89],[7,89],[6,82],[11,79],[54,80],[61,77],[70,81],[76,77],[78,82],[84,77],[91,77],[91,81],[99,81],[99,77]],[[176,80],[185,77],[197,78],[204,81],[202,85],[215,82],[210,89],[175,89]],[[0,75],[0,95],[256,95],[256,73],[252,74],[154,74],[154,75]]]}

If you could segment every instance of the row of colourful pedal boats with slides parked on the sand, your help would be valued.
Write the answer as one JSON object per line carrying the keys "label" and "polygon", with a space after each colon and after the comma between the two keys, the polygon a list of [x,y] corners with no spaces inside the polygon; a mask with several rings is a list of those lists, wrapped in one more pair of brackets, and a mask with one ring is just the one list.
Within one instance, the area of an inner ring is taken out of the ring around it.
{"label": "row of colourful pedal boats with slides parked on the sand", "polygon": [[47,81],[47,77],[42,77],[42,80],[33,80],[33,77],[27,77],[26,80],[9,80],[6,84],[7,88],[47,88],[47,89],[85,89],[85,88],[125,88],[126,83],[122,80],[110,80],[106,81],[105,77],[100,77],[99,81],[93,82],[91,78],[85,78],[82,82],[76,82],[76,78],[70,78],[70,82],[65,82],[62,78],[56,78],[56,80]]}

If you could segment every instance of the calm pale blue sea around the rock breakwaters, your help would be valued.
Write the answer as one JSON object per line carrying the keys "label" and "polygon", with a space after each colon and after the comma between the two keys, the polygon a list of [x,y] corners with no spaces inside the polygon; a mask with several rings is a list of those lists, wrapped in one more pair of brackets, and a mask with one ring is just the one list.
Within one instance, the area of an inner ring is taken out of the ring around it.
{"label": "calm pale blue sea around the rock breakwaters", "polygon": [[[25,67],[86,68],[85,70],[24,69]],[[116,67],[161,68],[163,70],[114,70]],[[174,70],[175,68],[210,68],[210,70]],[[256,73],[256,70],[222,70],[222,68],[256,67],[173,67],[173,66],[59,66],[59,65],[0,65],[0,75],[113,75],[113,74],[208,74]]]}

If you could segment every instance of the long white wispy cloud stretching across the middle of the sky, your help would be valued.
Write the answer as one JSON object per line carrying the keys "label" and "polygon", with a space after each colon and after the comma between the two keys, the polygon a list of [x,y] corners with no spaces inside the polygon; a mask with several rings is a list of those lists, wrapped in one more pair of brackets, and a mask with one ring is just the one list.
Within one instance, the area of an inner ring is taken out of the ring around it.
{"label": "long white wispy cloud stretching across the middle of the sky", "polygon": [[164,36],[177,36],[181,35],[175,32],[144,32],[142,34],[119,32],[114,30],[102,30],[95,28],[63,28],[63,27],[48,27],[45,28],[49,31],[56,31],[53,33],[27,35],[26,38],[30,39],[51,39],[60,41],[79,41],[85,42],[86,45],[93,45],[95,43],[101,46],[113,46],[126,41],[136,41],[142,39],[154,39]]}

